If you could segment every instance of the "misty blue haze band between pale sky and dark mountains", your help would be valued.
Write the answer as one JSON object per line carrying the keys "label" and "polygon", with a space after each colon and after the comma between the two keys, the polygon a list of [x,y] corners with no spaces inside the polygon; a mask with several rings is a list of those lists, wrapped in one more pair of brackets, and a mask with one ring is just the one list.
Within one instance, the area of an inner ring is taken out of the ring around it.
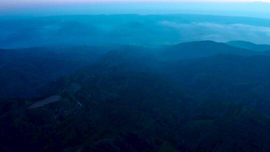
{"label": "misty blue haze band between pale sky and dark mountains", "polygon": [[213,15],[65,15],[0,19],[0,48],[245,40],[269,44],[270,20]]}

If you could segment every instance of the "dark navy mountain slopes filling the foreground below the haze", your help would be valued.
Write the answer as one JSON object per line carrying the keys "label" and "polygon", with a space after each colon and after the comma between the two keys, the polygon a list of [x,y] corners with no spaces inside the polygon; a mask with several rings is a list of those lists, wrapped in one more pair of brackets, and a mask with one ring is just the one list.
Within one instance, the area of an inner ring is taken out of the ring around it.
{"label": "dark navy mountain slopes filling the foreground below the haze", "polygon": [[269,151],[269,52],[231,45],[1,49],[0,150]]}

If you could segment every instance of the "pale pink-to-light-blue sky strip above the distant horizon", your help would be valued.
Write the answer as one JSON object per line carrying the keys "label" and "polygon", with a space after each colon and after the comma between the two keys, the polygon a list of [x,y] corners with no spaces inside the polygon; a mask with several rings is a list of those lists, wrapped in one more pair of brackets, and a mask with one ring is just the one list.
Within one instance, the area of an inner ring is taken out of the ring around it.
{"label": "pale pink-to-light-blue sky strip above the distant horizon", "polygon": [[206,14],[269,18],[269,0],[1,0],[0,15]]}

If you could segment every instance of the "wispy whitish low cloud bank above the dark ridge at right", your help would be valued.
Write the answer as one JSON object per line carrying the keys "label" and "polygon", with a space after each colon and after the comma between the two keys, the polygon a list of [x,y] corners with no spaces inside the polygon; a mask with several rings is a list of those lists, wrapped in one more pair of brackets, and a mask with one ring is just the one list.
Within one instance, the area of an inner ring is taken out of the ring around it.
{"label": "wispy whitish low cloud bank above the dark ridge at right", "polygon": [[176,23],[162,21],[160,24],[178,31],[181,41],[192,40],[246,40],[270,43],[270,27],[248,24],[217,24],[211,22]]}

